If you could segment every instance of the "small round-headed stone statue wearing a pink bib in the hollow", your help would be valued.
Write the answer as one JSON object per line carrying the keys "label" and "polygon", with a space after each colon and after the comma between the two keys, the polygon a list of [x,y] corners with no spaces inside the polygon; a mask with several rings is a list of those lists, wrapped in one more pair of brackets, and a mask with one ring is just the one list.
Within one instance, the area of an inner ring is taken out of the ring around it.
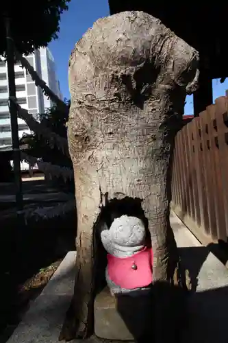
{"label": "small round-headed stone statue wearing a pink bib in the hollow", "polygon": [[138,217],[122,215],[110,229],[101,231],[108,252],[106,281],[112,295],[149,292],[153,283],[153,252],[146,245],[144,223]]}

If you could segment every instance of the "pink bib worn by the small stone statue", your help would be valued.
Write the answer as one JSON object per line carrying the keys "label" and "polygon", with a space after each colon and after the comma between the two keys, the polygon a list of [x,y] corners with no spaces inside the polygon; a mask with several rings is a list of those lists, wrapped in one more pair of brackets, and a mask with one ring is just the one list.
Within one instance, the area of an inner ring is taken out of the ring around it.
{"label": "pink bib worn by the small stone statue", "polygon": [[112,282],[121,288],[146,287],[153,281],[153,251],[145,247],[131,257],[114,257],[107,254],[107,273]]}

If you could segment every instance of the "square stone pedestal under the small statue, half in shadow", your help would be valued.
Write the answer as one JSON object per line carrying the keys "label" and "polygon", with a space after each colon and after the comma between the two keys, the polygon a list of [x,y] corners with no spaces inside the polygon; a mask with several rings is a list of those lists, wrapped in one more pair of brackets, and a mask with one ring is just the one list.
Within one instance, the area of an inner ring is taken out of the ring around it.
{"label": "square stone pedestal under the small statue, half in shadow", "polygon": [[105,287],[94,301],[94,333],[106,340],[134,341],[149,334],[151,297],[111,296]]}

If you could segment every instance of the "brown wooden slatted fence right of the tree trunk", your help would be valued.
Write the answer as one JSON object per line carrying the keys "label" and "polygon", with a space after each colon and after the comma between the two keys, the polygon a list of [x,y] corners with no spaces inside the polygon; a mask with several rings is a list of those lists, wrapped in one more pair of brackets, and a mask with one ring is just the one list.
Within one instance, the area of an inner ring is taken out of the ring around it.
{"label": "brown wooden slatted fence right of the tree trunk", "polygon": [[201,241],[228,236],[228,91],[177,134],[173,210]]}

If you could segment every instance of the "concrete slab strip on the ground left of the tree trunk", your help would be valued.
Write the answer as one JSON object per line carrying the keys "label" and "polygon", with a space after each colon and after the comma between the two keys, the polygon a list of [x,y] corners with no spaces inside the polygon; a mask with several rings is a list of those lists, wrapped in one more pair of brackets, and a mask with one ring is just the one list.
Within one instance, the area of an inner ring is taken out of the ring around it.
{"label": "concrete slab strip on the ground left of the tree trunk", "polygon": [[76,252],[68,252],[8,343],[57,343],[75,281]]}

